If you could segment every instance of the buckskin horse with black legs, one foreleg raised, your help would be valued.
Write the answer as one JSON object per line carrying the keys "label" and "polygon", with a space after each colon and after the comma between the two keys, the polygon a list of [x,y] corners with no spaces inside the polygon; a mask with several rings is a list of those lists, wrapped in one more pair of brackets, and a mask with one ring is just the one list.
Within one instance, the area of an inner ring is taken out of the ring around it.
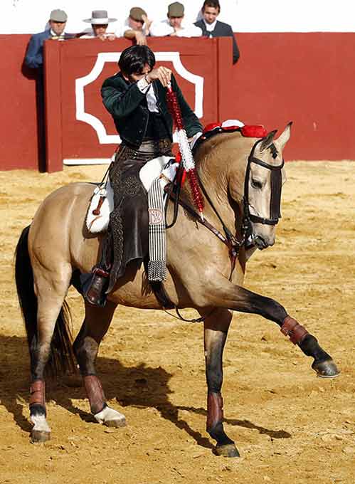
{"label": "buckskin horse with black legs, one foreleg raised", "polygon": [[[196,149],[196,173],[203,187],[204,220],[179,211],[166,231],[167,277],[164,290],[174,306],[195,308],[203,321],[206,358],[206,430],[216,441],[217,455],[239,456],[234,441],[223,429],[223,348],[233,311],[261,315],[279,325],[304,354],[313,358],[320,377],[337,377],[332,357],[319,346],[276,300],[243,288],[245,265],[256,248],[275,243],[280,218],[282,151],[290,139],[289,123],[281,135],[245,137],[240,131],[221,132]],[[276,177],[274,177],[276,175]],[[117,305],[161,309],[147,281],[144,264],[129,263],[126,273],[107,295],[104,307],[85,301],[85,318],[75,337],[68,327],[65,295],[70,285],[80,290],[78,274],[88,273],[98,261],[102,234],[85,226],[92,184],[73,183],[49,194],[16,246],[16,287],[25,322],[31,360],[30,419],[33,442],[47,441],[45,378],[48,370],[65,372],[78,362],[96,421],[106,426],[125,425],[122,413],[107,405],[95,357]],[[191,192],[181,189],[185,206]],[[173,216],[169,204],[167,217]],[[212,227],[212,229],[211,229]],[[248,241],[248,243],[247,243]],[[45,372],[46,369],[46,372]]]}

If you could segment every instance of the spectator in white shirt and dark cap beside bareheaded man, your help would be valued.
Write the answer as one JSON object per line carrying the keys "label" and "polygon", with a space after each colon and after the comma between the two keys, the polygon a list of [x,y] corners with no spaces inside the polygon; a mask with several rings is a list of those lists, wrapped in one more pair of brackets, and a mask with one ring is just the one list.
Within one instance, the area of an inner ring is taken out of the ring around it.
{"label": "spectator in white shirt and dark cap beside bareheaded man", "polygon": [[161,22],[154,21],[150,27],[150,35],[155,37],[201,37],[202,30],[194,23],[184,22],[184,5],[179,1],[168,6],[168,19]]}

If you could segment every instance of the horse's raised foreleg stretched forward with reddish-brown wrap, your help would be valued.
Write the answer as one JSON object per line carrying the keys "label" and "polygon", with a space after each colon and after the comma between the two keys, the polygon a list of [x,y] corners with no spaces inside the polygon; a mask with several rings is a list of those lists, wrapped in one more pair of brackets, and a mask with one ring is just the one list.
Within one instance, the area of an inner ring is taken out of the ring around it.
{"label": "horse's raised foreleg stretched forward with reddish-brown wrap", "polygon": [[[279,302],[252,293],[241,286],[232,285],[226,280],[223,283],[221,280],[221,285],[218,290],[214,290],[211,297],[216,305],[223,305],[235,311],[258,314],[276,322],[280,326],[281,332],[290,337],[292,343],[297,344],[304,354],[313,357],[312,369],[317,372],[319,377],[332,378],[339,375],[339,370],[332,357],[319,346],[313,335],[293,317],[287,315],[285,307],[282,307]],[[216,298],[218,299],[215,300]]]}

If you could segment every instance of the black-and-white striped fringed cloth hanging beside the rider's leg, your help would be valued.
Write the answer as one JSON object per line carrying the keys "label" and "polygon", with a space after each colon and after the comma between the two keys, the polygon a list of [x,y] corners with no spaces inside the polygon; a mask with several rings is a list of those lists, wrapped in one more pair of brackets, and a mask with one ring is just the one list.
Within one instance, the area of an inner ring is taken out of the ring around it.
{"label": "black-and-white striped fringed cloth hanging beside the rider's leg", "polygon": [[166,279],[166,236],[164,189],[159,178],[154,179],[148,191],[149,210],[149,263],[148,280]]}

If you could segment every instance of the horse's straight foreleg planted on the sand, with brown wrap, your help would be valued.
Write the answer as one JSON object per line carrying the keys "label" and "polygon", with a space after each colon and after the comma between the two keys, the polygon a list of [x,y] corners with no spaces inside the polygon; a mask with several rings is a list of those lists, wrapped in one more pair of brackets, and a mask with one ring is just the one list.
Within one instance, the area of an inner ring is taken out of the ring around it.
{"label": "horse's straight foreleg planted on the sand, with brown wrap", "polygon": [[207,431],[217,441],[218,456],[238,457],[234,442],[223,429],[223,348],[233,313],[218,308],[204,322],[204,346],[207,379]]}

